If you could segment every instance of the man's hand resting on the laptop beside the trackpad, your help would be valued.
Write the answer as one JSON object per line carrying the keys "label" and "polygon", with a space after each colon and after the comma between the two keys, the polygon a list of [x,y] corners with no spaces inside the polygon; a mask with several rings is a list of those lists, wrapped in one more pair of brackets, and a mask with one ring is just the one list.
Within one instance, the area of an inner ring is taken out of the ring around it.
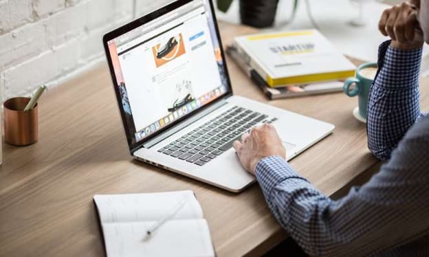
{"label": "man's hand resting on the laptop beside the trackpad", "polygon": [[255,127],[250,134],[243,134],[241,142],[234,142],[234,148],[245,170],[253,175],[261,159],[270,156],[286,158],[285,147],[271,124]]}

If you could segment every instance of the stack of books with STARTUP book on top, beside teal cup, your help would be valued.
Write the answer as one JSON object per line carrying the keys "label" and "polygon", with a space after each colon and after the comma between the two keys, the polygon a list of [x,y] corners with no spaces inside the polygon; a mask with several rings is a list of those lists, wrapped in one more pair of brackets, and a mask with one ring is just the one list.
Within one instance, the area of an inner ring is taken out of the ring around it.
{"label": "stack of books with STARTUP book on top, beside teal cup", "polygon": [[227,53],[270,99],[342,91],[356,69],[317,30],[239,36]]}

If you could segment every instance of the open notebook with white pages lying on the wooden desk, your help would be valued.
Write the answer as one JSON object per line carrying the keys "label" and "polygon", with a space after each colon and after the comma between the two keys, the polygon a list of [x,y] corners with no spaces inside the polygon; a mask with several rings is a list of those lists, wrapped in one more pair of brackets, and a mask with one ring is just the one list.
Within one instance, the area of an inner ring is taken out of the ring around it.
{"label": "open notebook with white pages lying on the wooden desk", "polygon": [[[97,194],[104,245],[115,256],[215,256],[210,230],[192,191]],[[146,232],[171,213],[151,236]]]}

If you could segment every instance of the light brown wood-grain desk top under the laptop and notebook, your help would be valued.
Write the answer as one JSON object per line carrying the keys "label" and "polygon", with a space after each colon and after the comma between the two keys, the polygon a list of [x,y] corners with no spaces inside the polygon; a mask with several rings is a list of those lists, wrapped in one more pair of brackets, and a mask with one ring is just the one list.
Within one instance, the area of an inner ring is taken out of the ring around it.
{"label": "light brown wood-grain desk top under the laptop and notebook", "polygon": [[[229,42],[245,27],[221,25]],[[357,98],[342,93],[268,102],[228,60],[234,92],[336,125],[292,161],[300,174],[333,194],[377,164],[365,125],[353,118]],[[427,85],[427,80],[425,80]],[[428,107],[428,88],[422,100]],[[0,168],[0,256],[103,256],[94,194],[193,190],[218,256],[258,255],[286,234],[257,184],[232,194],[133,161],[128,153],[107,65],[50,89],[39,104],[39,142],[5,144]]]}

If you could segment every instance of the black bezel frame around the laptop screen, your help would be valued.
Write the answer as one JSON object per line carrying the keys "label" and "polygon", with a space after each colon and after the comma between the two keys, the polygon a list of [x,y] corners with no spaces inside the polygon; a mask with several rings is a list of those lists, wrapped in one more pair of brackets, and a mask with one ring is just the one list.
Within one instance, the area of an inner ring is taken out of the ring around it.
{"label": "black bezel frame around the laptop screen", "polygon": [[[177,8],[180,8],[183,5],[191,3],[192,1],[194,1],[194,0],[177,0],[177,1],[174,1],[173,3],[169,3],[168,5],[165,5],[164,7],[159,8],[158,10],[155,10],[154,12],[146,14],[139,19],[135,19],[134,21],[131,21],[130,23],[127,23],[126,25],[123,25],[122,27],[119,27],[118,29],[115,29],[115,30],[113,30],[113,31],[111,31],[111,32],[109,32],[103,36],[104,52],[105,52],[106,57],[107,57],[107,63],[109,64],[109,70],[110,70],[111,79],[113,82],[113,89],[114,89],[115,94],[116,94],[116,100],[117,100],[118,108],[120,110],[120,115],[122,118],[122,124],[124,126],[126,140],[128,142],[130,153],[133,153],[135,150],[142,148],[143,144],[145,144],[149,140],[157,137],[161,133],[168,131],[168,129],[173,128],[174,126],[176,126],[180,122],[184,122],[184,120],[192,117],[193,115],[197,115],[198,113],[201,113],[201,111],[204,111],[204,110],[210,108],[213,104],[216,104],[217,102],[232,96],[232,86],[231,86],[231,82],[230,82],[230,76],[228,73],[228,67],[226,66],[225,52],[223,51],[223,45],[222,45],[221,36],[219,33],[219,26],[217,24],[216,14],[214,12],[214,5],[212,3],[212,0],[204,0],[204,1],[208,1],[209,5],[210,5],[210,12],[212,15],[214,32],[216,33],[217,40],[219,42],[219,48],[220,48],[221,57],[222,57],[222,65],[223,65],[223,69],[225,71],[225,80],[228,84],[228,85],[226,85],[227,88],[226,88],[225,93],[223,93],[223,95],[219,96],[217,99],[213,100],[212,102],[204,105],[203,107],[200,107],[199,109],[192,111],[191,113],[188,113],[187,115],[184,115],[183,117],[179,118],[178,120],[175,120],[175,122],[168,124],[168,126],[164,126],[164,128],[159,129],[159,131],[156,131],[155,133],[149,135],[148,137],[145,137],[144,139],[140,140],[139,142],[136,142],[135,135],[130,135],[131,133],[129,133],[129,127],[128,127],[128,124],[126,123],[126,116],[124,113],[124,109],[122,108],[122,98],[120,97],[120,91],[119,91],[119,87],[117,85],[118,82],[116,81],[115,70],[113,68],[113,63],[111,60],[111,55],[110,55],[108,43],[109,43],[109,41],[112,41],[115,38],[118,38],[119,36],[122,36],[122,35],[130,32],[131,30],[135,30],[137,27],[140,27],[140,26],[142,26],[142,25],[144,25],[150,21],[154,21],[155,19],[159,18],[160,16],[163,16],[164,14],[168,14],[168,12],[172,12],[174,10],[177,10]],[[204,3],[204,5],[206,5],[206,3]],[[125,86],[126,86],[126,82],[125,82]],[[134,114],[132,113],[132,115],[134,115]]]}

